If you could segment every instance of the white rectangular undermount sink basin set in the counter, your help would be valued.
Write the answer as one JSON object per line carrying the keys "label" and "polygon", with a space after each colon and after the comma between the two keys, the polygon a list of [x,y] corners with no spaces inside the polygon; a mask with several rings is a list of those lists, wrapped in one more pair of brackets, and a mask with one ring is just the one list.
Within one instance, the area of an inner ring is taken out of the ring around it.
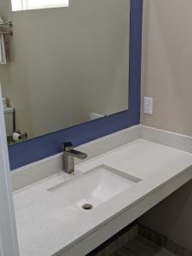
{"label": "white rectangular undermount sink basin set in the counter", "polygon": [[97,207],[139,181],[141,179],[137,177],[102,165],[48,190],[62,194],[63,202],[67,205],[82,208],[84,204],[90,204]]}

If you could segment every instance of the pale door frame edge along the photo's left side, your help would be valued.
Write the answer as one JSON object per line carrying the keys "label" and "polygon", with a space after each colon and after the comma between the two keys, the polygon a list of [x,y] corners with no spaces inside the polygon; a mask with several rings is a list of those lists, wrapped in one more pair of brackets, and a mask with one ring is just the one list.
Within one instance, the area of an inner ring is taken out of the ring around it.
{"label": "pale door frame edge along the photo's left side", "polygon": [[0,86],[0,255],[19,256],[9,173],[9,156]]}

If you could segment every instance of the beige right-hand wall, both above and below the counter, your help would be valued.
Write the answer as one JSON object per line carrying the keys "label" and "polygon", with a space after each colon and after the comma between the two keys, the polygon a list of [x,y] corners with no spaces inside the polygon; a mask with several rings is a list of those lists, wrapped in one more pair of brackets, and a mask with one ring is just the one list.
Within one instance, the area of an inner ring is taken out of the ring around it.
{"label": "beige right-hand wall, both above and below the counter", "polygon": [[[144,0],[142,89],[154,97],[154,115],[142,113],[144,125],[192,136],[191,0]],[[140,222],[192,250],[192,182]]]}

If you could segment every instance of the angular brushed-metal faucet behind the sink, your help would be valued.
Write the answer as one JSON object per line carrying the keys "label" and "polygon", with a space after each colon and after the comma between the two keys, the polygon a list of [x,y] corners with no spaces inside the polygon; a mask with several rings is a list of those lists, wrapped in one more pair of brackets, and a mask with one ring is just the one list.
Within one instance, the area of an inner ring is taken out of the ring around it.
{"label": "angular brushed-metal faucet behind the sink", "polygon": [[87,154],[73,149],[72,143],[63,143],[63,170],[67,173],[74,172],[74,157],[79,159],[87,158]]}

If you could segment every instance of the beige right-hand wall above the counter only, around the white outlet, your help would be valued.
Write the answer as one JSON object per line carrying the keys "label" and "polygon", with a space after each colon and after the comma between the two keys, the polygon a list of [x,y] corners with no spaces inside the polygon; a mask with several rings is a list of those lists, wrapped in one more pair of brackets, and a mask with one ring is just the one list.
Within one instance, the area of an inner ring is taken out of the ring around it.
{"label": "beige right-hand wall above the counter only, around the white outlet", "polygon": [[142,123],[192,136],[192,1],[144,0]]}

